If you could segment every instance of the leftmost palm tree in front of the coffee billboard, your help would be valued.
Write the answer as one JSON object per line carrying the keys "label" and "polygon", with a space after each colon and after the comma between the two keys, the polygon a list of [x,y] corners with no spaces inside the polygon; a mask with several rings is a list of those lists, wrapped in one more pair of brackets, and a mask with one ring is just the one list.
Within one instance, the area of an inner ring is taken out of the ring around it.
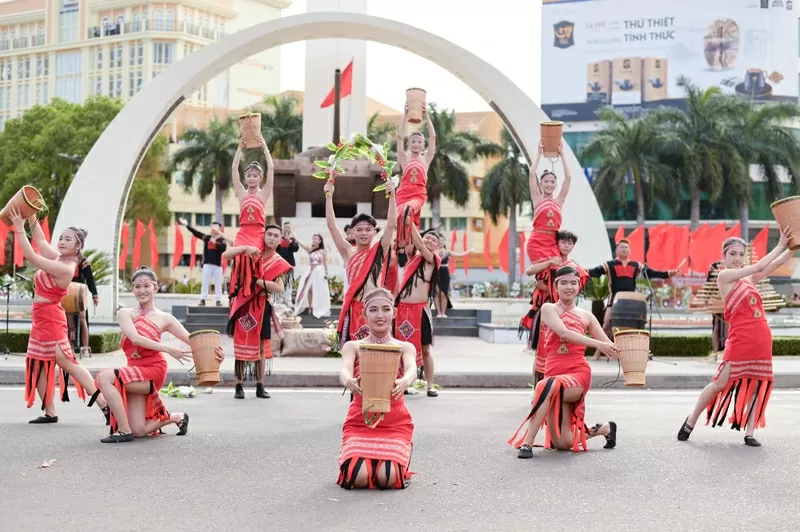
{"label": "leftmost palm tree in front of the coffee billboard", "polygon": [[625,204],[628,180],[632,179],[636,223],[642,225],[647,208],[656,197],[670,203],[677,201],[677,183],[670,176],[670,168],[658,157],[669,151],[674,138],[658,127],[652,116],[629,120],[607,107],[600,111],[600,119],[606,128],[589,141],[582,154],[584,161],[602,161],[594,181],[597,201],[606,209]]}

